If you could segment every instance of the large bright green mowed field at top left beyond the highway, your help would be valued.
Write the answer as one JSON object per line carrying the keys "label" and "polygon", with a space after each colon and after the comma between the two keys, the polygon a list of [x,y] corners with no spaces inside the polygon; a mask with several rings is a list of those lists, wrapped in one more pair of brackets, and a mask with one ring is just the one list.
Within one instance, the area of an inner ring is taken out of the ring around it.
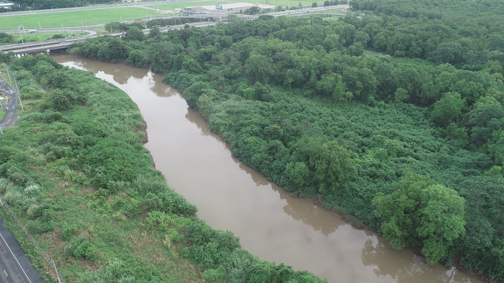
{"label": "large bright green mowed field at top left beyond the highway", "polygon": [[[163,16],[151,9],[136,7],[118,7],[93,10],[77,10],[59,13],[26,14],[0,17],[0,29],[16,29],[23,25],[25,29],[75,27],[98,25],[111,22],[138,20],[146,17]],[[164,15],[166,16],[166,14]],[[40,23],[40,26],[39,26]]]}

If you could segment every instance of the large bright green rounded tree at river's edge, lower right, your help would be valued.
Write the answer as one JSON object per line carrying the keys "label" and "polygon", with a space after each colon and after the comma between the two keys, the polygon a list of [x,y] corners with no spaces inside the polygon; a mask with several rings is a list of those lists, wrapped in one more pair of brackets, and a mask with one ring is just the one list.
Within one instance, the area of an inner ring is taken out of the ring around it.
{"label": "large bright green rounded tree at river's edge, lower right", "polygon": [[409,173],[390,195],[373,199],[381,232],[394,249],[423,246],[431,264],[448,256],[453,241],[464,235],[464,202],[456,191]]}

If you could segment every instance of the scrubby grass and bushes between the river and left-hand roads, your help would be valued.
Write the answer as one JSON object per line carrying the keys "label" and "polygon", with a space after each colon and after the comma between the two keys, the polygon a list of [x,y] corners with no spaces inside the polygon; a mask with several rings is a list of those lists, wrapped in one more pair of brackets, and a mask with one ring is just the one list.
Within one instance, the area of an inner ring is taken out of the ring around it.
{"label": "scrubby grass and bushes between the river and left-hand roads", "polygon": [[[261,261],[230,231],[194,217],[153,168],[146,123],[126,93],[47,55],[2,54],[0,63],[25,108],[0,136],[0,194],[66,282],[327,283]],[[0,217],[56,281],[12,216]]]}

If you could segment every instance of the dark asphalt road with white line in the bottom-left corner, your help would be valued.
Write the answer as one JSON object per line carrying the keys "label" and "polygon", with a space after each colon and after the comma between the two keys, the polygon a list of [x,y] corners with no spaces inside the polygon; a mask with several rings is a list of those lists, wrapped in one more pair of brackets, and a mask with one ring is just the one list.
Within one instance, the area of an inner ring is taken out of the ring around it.
{"label": "dark asphalt road with white line in the bottom-left corner", "polygon": [[37,270],[0,219],[0,282],[43,283]]}

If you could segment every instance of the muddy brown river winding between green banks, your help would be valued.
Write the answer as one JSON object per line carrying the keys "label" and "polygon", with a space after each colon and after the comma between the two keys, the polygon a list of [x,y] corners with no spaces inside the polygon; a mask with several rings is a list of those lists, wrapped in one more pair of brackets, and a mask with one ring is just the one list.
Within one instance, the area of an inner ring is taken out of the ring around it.
{"label": "muddy brown river winding between green banks", "polygon": [[65,66],[93,71],[138,105],[147,122],[156,168],[197,205],[197,216],[230,230],[261,259],[309,270],[329,282],[481,282],[456,269],[429,266],[409,250],[395,251],[369,230],[289,193],[231,156],[223,139],[188,109],[179,92],[147,69],[52,54]]}

